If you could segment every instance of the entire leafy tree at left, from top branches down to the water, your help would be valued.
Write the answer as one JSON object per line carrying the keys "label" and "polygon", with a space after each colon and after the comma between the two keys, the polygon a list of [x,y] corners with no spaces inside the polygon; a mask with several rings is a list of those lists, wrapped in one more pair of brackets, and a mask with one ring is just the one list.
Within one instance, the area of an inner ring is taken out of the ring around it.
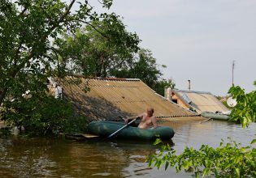
{"label": "entire leafy tree at left, from top branches down to the water", "polygon": [[[109,8],[111,3],[103,0],[102,6]],[[115,27],[98,31],[102,36],[126,37],[124,28],[115,25],[117,15],[97,14],[87,0],[0,0],[0,119],[45,134],[75,118],[72,106],[46,95],[47,77],[62,72],[62,51],[54,41],[77,28],[97,29],[97,21]],[[121,40],[111,43],[119,46]],[[129,45],[135,48],[137,42],[131,40]]]}

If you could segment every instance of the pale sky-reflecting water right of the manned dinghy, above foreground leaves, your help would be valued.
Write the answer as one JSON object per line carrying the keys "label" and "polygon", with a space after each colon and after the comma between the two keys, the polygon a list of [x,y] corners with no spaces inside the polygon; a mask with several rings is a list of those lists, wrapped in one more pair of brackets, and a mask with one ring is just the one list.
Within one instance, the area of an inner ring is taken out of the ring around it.
{"label": "pale sky-reflecting water right of the manned dinghy, above foreground leaves", "polygon": [[241,142],[242,145],[249,145],[251,140],[255,138],[255,134],[255,123],[249,125],[249,128],[243,129],[241,125],[234,122],[208,121],[202,124],[199,122],[183,125],[176,129],[176,135],[172,140],[175,142],[174,149],[176,150],[182,150],[184,146],[199,149],[202,144],[213,147],[219,146],[221,138],[228,142],[228,137],[236,142]]}

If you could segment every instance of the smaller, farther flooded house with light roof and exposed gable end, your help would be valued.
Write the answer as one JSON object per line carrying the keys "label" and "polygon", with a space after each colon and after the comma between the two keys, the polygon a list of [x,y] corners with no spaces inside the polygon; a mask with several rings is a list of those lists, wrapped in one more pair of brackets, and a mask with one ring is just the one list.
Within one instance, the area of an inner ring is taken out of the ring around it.
{"label": "smaller, farther flooded house with light roof and exposed gable end", "polygon": [[197,113],[207,112],[228,112],[216,97],[210,92],[171,90],[171,101],[181,107],[193,110]]}

